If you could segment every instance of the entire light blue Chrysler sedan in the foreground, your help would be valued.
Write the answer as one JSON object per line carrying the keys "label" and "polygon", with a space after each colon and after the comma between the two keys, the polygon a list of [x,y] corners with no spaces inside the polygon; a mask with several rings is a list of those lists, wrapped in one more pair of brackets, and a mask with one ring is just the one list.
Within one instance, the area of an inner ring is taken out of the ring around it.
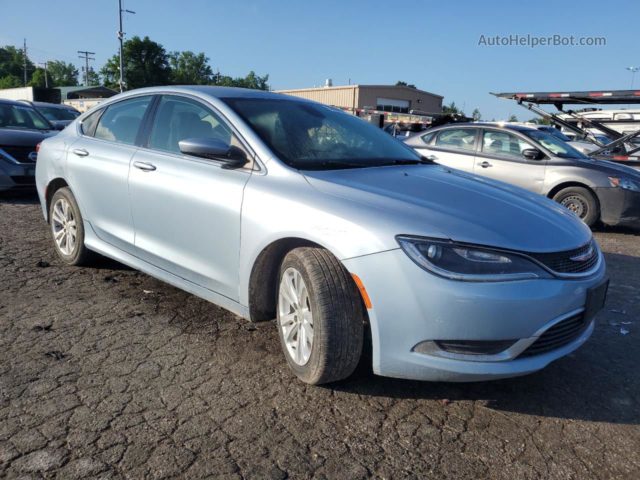
{"label": "entire light blue Chrysler sedan in the foreground", "polygon": [[563,207],[287,95],[116,95],[42,142],[36,184],[63,261],[100,253],[276,319],[307,383],[351,374],[369,341],[386,376],[533,372],[588,339],[607,290]]}

